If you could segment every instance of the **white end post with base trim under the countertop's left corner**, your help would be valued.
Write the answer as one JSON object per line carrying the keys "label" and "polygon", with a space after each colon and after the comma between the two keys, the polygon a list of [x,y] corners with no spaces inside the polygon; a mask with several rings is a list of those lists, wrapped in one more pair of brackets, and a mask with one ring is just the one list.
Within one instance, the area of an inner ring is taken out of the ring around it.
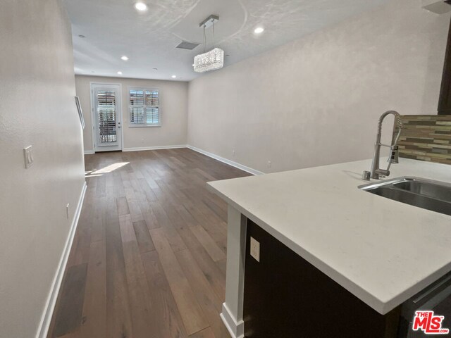
{"label": "white end post with base trim under the countertop's left corner", "polygon": [[221,318],[233,338],[244,337],[242,319],[245,290],[247,218],[233,206],[228,206],[227,221],[227,268],[226,302],[223,303]]}

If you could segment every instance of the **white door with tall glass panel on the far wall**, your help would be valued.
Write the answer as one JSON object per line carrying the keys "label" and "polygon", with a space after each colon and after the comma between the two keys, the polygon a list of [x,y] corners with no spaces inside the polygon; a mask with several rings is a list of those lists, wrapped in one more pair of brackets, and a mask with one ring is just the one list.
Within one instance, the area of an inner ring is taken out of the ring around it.
{"label": "white door with tall glass panel on the far wall", "polygon": [[94,151],[122,150],[121,86],[91,84]]}

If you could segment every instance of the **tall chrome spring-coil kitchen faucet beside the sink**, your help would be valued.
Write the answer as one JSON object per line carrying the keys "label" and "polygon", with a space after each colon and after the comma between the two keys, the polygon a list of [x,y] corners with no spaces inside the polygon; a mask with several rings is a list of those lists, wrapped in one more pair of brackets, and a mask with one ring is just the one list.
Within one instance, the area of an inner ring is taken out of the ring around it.
{"label": "tall chrome spring-coil kitchen faucet beside the sink", "polygon": [[[397,125],[398,132],[395,139],[393,139],[392,144],[388,146],[386,144],[381,143],[381,136],[382,136],[383,119],[390,114],[395,115],[395,123]],[[399,113],[397,113],[396,111],[385,111],[385,113],[381,115],[378,121],[378,134],[376,135],[376,144],[374,144],[374,155],[373,155],[373,163],[371,163],[371,171],[364,171],[364,175],[362,176],[364,180],[369,181],[370,178],[378,180],[379,176],[385,177],[390,175],[390,165],[392,163],[397,163],[398,159],[397,142],[400,139],[401,129],[402,129],[402,121],[401,115]],[[379,168],[379,157],[381,156],[381,146],[388,146],[390,148],[387,169]]]}

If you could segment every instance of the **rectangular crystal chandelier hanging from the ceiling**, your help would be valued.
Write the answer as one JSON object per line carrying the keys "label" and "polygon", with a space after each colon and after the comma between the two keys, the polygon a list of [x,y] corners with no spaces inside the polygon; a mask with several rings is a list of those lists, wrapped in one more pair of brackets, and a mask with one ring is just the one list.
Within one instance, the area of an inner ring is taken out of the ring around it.
{"label": "rectangular crystal chandelier hanging from the ceiling", "polygon": [[[218,20],[219,17],[217,15],[210,15],[209,18],[206,18],[206,20],[199,24],[199,27],[204,27],[204,53],[194,56],[194,64],[192,65],[194,67],[194,72],[204,73],[209,70],[223,68],[224,51],[220,48],[214,48],[214,23]],[[213,49],[205,52],[205,29],[210,26],[213,26]]]}

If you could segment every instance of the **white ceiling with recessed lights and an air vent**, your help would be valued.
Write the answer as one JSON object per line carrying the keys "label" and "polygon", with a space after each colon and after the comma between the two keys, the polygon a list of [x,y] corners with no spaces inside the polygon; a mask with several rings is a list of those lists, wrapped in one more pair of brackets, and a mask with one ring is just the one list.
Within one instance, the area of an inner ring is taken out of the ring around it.
{"label": "white ceiling with recessed lights and an air vent", "polygon": [[[215,46],[225,51],[227,66],[388,2],[144,0],[149,9],[138,12],[134,0],[63,1],[72,21],[75,74],[178,81],[199,76],[192,70],[194,56],[204,51],[199,23],[210,14],[219,15]],[[265,30],[256,35],[255,27]],[[211,28],[206,37],[208,51]],[[182,40],[201,45],[176,49]]]}

